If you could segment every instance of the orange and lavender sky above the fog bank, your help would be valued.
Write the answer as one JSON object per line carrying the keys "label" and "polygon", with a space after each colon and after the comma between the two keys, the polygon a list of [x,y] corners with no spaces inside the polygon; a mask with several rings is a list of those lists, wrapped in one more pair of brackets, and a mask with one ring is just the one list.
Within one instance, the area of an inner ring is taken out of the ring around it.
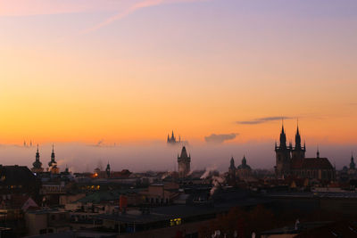
{"label": "orange and lavender sky above the fog bank", "polygon": [[233,153],[273,144],[284,117],[288,140],[298,119],[311,151],[342,146],[348,160],[355,12],[354,0],[0,0],[0,144],[145,148],[175,130]]}

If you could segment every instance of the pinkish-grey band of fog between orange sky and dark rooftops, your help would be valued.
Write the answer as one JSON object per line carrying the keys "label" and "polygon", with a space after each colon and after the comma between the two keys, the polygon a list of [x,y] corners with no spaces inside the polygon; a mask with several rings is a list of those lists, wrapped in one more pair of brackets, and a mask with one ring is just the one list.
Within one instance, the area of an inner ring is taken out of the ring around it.
{"label": "pinkish-grey band of fog between orange sky and dark rooftops", "polygon": [[[284,131],[286,132],[286,126]],[[302,129],[299,127],[301,144],[305,146],[305,137],[301,131]],[[275,143],[279,144],[279,140],[275,140]],[[295,146],[295,139],[290,140],[287,137],[286,145],[289,146],[290,143]],[[68,167],[72,171],[91,171],[98,168],[99,164],[104,166],[107,162],[111,163],[112,168],[129,168],[132,171],[176,171],[178,169],[176,155],[185,145],[193,154],[192,170],[218,169],[225,171],[228,158],[231,157],[239,161],[245,156],[253,169],[272,170],[275,163],[273,140],[269,143],[258,144],[257,142],[246,144],[183,142],[183,144],[171,145],[163,139],[146,144],[105,144],[104,141],[101,141],[100,144],[60,143],[55,145],[55,152],[59,153],[59,156],[56,156],[59,167],[61,169]],[[40,160],[46,164],[47,160],[50,161],[50,152],[54,151],[54,144],[41,144],[39,148]],[[308,141],[306,155],[314,158],[320,151],[322,157],[327,157],[334,167],[340,169],[348,165],[352,153],[355,152],[354,149],[355,145],[350,144],[309,144]],[[2,145],[0,150],[3,164],[30,165],[34,160],[32,157],[35,156],[37,145]]]}

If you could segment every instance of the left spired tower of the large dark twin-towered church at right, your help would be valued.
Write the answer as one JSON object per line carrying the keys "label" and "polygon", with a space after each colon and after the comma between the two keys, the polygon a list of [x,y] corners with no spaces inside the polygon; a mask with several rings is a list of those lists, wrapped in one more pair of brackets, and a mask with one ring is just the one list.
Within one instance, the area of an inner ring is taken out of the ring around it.
{"label": "left spired tower of the large dark twin-towered church at right", "polygon": [[283,124],[281,127],[279,144],[277,143],[275,144],[275,153],[276,153],[275,173],[278,178],[290,174],[291,150],[292,150],[291,145],[286,146],[286,134]]}

